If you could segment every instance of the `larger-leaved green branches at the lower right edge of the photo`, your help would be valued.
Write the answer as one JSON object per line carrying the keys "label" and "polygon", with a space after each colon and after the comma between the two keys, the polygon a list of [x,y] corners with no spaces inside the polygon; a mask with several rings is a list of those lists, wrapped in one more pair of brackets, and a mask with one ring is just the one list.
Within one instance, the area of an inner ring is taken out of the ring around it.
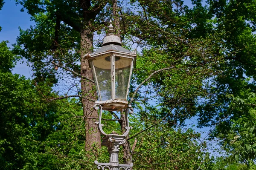
{"label": "larger-leaved green branches at the lower right edge of the photo", "polygon": [[247,98],[232,98],[230,105],[232,112],[243,112],[243,114],[238,120],[233,120],[230,135],[223,141],[223,145],[225,150],[233,154],[236,162],[246,161],[251,167],[256,156],[255,93],[246,93],[244,97]]}

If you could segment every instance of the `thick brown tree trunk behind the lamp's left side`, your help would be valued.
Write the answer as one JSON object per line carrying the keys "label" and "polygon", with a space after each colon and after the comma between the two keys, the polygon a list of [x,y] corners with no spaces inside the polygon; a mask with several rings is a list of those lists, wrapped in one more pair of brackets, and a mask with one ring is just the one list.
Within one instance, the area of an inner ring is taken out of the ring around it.
{"label": "thick brown tree trunk behind the lamp's left side", "polygon": [[[81,75],[93,80],[93,74],[89,67],[89,62],[84,59],[84,55],[92,53],[93,31],[90,30],[91,22],[86,23],[88,29],[82,29],[81,35]],[[86,127],[86,151],[95,151],[101,147],[100,133],[95,124],[98,119],[98,112],[93,110],[94,101],[97,99],[94,84],[81,78],[82,106]],[[95,154],[95,153],[94,153]]]}

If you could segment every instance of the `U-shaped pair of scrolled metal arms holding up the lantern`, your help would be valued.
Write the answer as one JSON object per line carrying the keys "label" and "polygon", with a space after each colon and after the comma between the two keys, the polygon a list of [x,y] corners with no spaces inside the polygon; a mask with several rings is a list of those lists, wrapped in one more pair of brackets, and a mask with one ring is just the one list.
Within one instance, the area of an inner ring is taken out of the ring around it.
{"label": "U-shaped pair of scrolled metal arms holding up the lantern", "polygon": [[[98,109],[99,109],[99,121],[95,122],[96,124],[98,124],[99,132],[100,132],[102,135],[107,136],[108,134],[105,133],[105,132],[103,131],[103,129],[102,129],[102,127],[104,126],[104,124],[101,123],[101,120],[102,120],[102,106],[101,106],[100,104],[95,104],[95,105],[93,106],[93,108],[94,108],[95,110],[98,110]],[[127,136],[127,135],[128,135],[130,129],[132,129],[132,127],[129,126],[128,113],[131,114],[131,113],[133,113],[133,112],[134,112],[134,109],[131,108],[131,107],[128,107],[128,108],[125,110],[125,121],[126,121],[126,127],[125,127],[125,129],[126,129],[126,131],[125,131],[124,134],[122,134],[122,135],[117,135],[117,136]]]}

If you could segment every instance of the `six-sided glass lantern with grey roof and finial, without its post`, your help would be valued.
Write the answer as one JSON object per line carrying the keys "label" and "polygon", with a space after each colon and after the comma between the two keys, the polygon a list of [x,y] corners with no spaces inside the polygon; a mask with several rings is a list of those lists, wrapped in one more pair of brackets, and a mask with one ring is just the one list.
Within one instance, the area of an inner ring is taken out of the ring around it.
{"label": "six-sided glass lantern with grey roof and finial, without its post", "polygon": [[[113,28],[111,26],[109,28]],[[98,94],[95,103],[105,110],[114,111],[128,107],[127,98],[136,51],[123,48],[120,38],[113,35],[112,30],[108,30],[110,34],[104,38],[102,47],[90,55],[90,66]]]}

